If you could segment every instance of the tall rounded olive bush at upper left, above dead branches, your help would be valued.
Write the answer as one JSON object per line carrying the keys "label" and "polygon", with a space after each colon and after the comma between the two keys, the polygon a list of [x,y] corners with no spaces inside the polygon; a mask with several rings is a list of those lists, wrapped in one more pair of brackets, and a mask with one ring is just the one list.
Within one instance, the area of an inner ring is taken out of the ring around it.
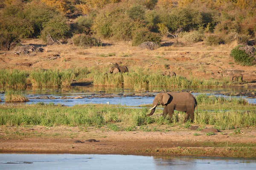
{"label": "tall rounded olive bush at upper left, above dead branches", "polygon": [[41,31],[41,38],[47,42],[47,36],[50,35],[54,40],[61,40],[65,38],[69,30],[67,18],[62,15],[55,16],[49,20],[43,31]]}

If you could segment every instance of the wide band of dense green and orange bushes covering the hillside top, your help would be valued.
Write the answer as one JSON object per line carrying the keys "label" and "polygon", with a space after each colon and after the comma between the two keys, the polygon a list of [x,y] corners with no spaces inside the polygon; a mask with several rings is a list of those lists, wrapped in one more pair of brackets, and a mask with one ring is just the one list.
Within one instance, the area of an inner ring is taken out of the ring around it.
{"label": "wide band of dense green and orange bushes covering the hillside top", "polygon": [[[143,41],[159,42],[159,33],[178,38],[182,31],[192,31],[193,38],[183,37],[187,42],[196,42],[202,39],[196,34],[200,31],[221,35],[221,39],[206,39],[207,44],[217,45],[233,40],[246,43],[256,35],[254,0],[4,0],[2,5],[0,31],[20,38],[45,40],[50,34],[60,40],[75,34],[96,34],[132,40],[133,45],[138,45]],[[86,15],[70,24],[67,18],[77,14]]]}

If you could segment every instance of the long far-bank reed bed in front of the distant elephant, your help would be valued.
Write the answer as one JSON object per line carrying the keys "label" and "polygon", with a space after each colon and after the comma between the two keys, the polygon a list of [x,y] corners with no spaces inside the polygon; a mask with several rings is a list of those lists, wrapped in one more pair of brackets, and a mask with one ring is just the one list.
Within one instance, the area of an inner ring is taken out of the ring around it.
{"label": "long far-bank reed bed in front of the distant elephant", "polygon": [[175,87],[175,88],[188,88],[188,87],[224,87],[230,86],[231,82],[227,79],[214,80],[214,79],[196,79],[191,77],[176,76],[167,77],[162,76],[160,72],[148,72],[143,69],[130,71],[124,73],[122,76],[115,76],[112,74],[103,75],[99,71],[94,74],[94,85],[99,86],[120,86],[125,88],[133,88],[135,91],[148,90],[148,87]]}

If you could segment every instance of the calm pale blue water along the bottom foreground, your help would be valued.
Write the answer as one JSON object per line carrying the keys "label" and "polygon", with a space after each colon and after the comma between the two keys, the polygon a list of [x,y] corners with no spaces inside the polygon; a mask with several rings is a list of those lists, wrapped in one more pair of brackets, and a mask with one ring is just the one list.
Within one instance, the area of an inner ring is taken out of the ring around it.
{"label": "calm pale blue water along the bottom foreground", "polygon": [[255,170],[256,159],[132,155],[0,154],[1,170]]}

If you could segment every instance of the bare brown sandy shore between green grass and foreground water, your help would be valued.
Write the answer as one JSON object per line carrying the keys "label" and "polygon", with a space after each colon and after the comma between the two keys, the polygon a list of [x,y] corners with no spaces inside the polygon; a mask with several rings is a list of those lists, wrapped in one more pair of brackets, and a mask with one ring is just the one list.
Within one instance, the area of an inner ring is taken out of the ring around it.
{"label": "bare brown sandy shore between green grass and foreground water", "polygon": [[[8,139],[2,137],[0,139],[0,154],[114,154],[256,158],[256,128],[243,128],[244,134],[238,135],[228,135],[227,133],[231,133],[232,130],[224,130],[221,132],[222,134],[215,133],[212,136],[206,136],[201,132],[199,132],[200,136],[193,136],[195,130],[175,130],[173,127],[169,132],[114,132],[95,129],[89,132],[79,132],[78,127],[68,127],[72,131],[77,130],[77,136],[73,139],[52,136],[56,132],[60,133],[63,129],[67,129],[67,127],[51,127],[50,130],[43,128],[44,137],[22,138],[18,135],[9,136]],[[76,140],[83,142],[86,139],[96,139],[99,142],[74,143]]]}

